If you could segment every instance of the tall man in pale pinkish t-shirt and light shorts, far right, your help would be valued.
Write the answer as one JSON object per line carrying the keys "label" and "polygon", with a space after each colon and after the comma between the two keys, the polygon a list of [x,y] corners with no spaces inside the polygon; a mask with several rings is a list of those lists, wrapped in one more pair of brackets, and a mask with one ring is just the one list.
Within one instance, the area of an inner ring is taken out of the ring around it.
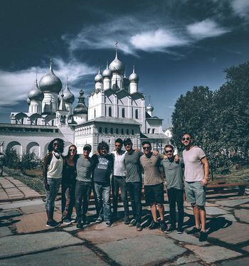
{"label": "tall man in pale pinkish t-shirt and light shorts, far right", "polygon": [[185,192],[186,199],[194,211],[194,218],[196,226],[189,231],[189,233],[199,233],[199,241],[205,241],[206,233],[206,190],[208,184],[208,159],[204,151],[197,146],[192,146],[193,137],[186,133],[181,139],[184,145],[184,176],[185,176]]}

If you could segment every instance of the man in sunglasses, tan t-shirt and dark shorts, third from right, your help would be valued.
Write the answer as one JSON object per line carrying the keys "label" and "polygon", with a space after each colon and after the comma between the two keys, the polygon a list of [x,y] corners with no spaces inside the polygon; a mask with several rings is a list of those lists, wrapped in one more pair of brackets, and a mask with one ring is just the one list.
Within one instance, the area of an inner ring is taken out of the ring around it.
{"label": "man in sunglasses, tan t-shirt and dark shorts, third from right", "polygon": [[[161,159],[164,159],[163,154],[154,156],[152,153],[152,144],[150,142],[142,142],[144,155],[140,157],[140,164],[144,170],[144,194],[147,205],[151,206],[152,223],[149,229],[160,228],[164,232],[167,225],[164,221],[164,181],[159,171]],[[157,222],[157,208],[160,215],[160,223]]]}

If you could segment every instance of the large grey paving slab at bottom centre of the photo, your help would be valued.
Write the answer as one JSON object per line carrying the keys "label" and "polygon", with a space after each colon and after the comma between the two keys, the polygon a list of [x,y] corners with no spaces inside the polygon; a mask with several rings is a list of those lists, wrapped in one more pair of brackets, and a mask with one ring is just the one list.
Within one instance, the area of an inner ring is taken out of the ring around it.
{"label": "large grey paving slab at bottom centre of the photo", "polygon": [[97,245],[97,248],[124,266],[157,265],[186,252],[186,248],[179,247],[164,235],[141,235]]}

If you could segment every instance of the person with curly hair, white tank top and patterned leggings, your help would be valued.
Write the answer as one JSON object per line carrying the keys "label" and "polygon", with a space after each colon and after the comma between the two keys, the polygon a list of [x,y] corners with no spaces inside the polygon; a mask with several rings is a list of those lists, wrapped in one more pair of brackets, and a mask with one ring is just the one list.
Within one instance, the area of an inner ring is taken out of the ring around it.
{"label": "person with curly hair, white tank top and patterned leggings", "polygon": [[46,189],[46,213],[48,216],[46,226],[50,227],[60,225],[60,223],[53,220],[53,211],[63,171],[63,149],[63,139],[53,139],[48,144],[48,154],[46,154],[43,162],[43,181]]}

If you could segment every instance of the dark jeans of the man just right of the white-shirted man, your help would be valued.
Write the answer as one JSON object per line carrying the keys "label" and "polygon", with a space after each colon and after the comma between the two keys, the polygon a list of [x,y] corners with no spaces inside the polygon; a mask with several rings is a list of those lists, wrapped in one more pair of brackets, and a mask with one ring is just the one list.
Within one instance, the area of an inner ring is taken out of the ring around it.
{"label": "dark jeans of the man just right of the white-shirted man", "polygon": [[127,189],[131,198],[132,213],[137,223],[141,223],[142,217],[142,182],[127,182]]}

